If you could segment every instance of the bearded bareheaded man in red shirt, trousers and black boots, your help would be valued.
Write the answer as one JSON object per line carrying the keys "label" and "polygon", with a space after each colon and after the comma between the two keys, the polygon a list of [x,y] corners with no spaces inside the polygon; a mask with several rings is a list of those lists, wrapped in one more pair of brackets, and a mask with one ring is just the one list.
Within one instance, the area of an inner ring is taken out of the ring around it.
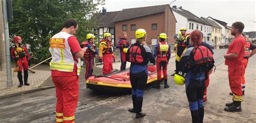
{"label": "bearded bareheaded man in red shirt, trousers and black boots", "polygon": [[228,47],[227,53],[224,55],[225,64],[228,66],[228,81],[230,82],[230,89],[233,95],[233,102],[227,103],[224,108],[227,112],[241,112],[242,102],[242,75],[245,73],[245,66],[243,63],[246,40],[242,36],[244,24],[235,22],[232,24],[231,34],[234,35],[234,40]]}

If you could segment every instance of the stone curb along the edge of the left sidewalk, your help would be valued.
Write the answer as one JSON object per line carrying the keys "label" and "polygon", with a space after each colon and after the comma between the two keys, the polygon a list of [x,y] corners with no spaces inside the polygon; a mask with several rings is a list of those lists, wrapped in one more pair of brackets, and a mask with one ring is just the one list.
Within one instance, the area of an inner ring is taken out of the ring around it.
{"label": "stone curb along the edge of the left sidewalk", "polygon": [[9,93],[9,94],[3,94],[0,95],[0,99],[4,99],[4,98],[8,98],[8,97],[13,97],[13,96],[17,96],[17,95],[23,95],[25,93],[31,93],[31,92],[35,92],[35,91],[41,91],[41,90],[45,90],[45,89],[50,89],[50,88],[54,88],[55,85],[51,85],[51,86],[44,86],[44,87],[38,87],[35,89],[30,89],[30,90],[26,90],[26,91],[21,91],[21,92],[15,92],[15,93]]}

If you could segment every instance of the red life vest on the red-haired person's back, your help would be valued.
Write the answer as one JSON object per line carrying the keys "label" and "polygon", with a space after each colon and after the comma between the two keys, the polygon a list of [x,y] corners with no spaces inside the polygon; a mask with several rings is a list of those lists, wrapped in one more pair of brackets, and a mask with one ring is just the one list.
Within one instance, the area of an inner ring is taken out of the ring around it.
{"label": "red life vest on the red-haired person's back", "polygon": [[194,52],[194,62],[196,64],[208,63],[213,61],[212,52],[205,46],[197,47]]}

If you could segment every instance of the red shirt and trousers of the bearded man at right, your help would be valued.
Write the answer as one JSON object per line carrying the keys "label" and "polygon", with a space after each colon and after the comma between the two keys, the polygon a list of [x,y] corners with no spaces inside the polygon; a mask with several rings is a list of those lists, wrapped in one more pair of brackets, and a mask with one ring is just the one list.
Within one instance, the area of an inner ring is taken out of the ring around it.
{"label": "red shirt and trousers of the bearded man at right", "polygon": [[238,54],[233,59],[226,59],[225,64],[228,66],[228,81],[230,82],[230,89],[234,93],[234,101],[242,101],[242,75],[245,73],[244,63],[242,59],[244,57],[246,47],[246,40],[244,37],[236,37],[228,47],[227,53]]}

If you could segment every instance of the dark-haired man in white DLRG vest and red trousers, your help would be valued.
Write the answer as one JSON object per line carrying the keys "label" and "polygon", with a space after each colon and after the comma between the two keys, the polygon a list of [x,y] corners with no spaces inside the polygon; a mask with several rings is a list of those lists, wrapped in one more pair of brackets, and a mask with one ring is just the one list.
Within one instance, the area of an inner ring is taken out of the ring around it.
{"label": "dark-haired man in white DLRG vest and red trousers", "polygon": [[81,49],[73,35],[78,30],[76,20],[69,19],[62,31],[50,38],[50,62],[52,82],[56,89],[56,122],[74,122],[79,95],[80,58],[85,49]]}

